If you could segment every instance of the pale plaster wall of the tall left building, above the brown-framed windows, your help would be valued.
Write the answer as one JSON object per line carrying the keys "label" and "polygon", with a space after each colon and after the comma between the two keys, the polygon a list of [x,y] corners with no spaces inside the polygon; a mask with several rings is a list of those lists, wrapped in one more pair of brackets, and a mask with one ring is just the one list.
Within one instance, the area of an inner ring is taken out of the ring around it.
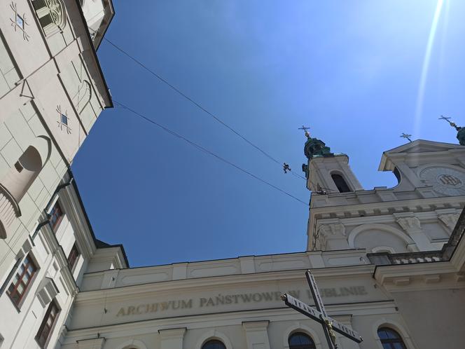
{"label": "pale plaster wall of the tall left building, above the brown-framed windows", "polygon": [[[33,233],[100,112],[111,107],[78,4],[63,4],[66,24],[53,33],[41,28],[32,1],[0,4],[0,184],[11,182],[28,146],[38,139],[49,144],[39,176],[19,200],[20,217],[0,239],[0,277]],[[24,27],[16,23],[18,15]],[[67,116],[67,125],[60,114]]]}

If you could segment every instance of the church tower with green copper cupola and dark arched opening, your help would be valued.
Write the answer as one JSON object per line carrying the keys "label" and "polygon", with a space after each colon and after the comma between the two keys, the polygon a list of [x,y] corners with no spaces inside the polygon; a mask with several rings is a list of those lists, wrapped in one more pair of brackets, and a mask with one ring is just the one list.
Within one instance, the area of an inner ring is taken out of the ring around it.
{"label": "church tower with green copper cupola and dark arched opening", "polygon": [[343,153],[333,153],[321,139],[313,138],[305,130],[304,153],[308,159],[303,165],[307,188],[310,191],[326,193],[347,193],[363,190],[354,172],[349,167],[349,157]]}

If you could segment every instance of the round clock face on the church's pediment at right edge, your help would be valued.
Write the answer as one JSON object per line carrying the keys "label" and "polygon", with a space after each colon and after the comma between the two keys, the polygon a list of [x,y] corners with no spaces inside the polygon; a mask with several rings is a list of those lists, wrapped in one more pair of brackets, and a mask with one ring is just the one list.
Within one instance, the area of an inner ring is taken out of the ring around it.
{"label": "round clock face on the church's pediment at right edge", "polygon": [[465,172],[432,166],[422,170],[419,177],[426,179],[437,193],[447,196],[465,195]]}

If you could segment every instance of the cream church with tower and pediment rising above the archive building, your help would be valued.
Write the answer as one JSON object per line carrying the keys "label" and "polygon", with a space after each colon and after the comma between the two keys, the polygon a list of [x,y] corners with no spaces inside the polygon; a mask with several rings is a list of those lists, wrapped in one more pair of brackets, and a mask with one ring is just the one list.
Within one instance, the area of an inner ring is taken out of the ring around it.
{"label": "cream church with tower and pediment rising above the archive building", "polygon": [[447,242],[465,205],[465,146],[418,139],[384,151],[378,170],[398,184],[363,189],[347,155],[306,135],[308,250],[402,253]]}

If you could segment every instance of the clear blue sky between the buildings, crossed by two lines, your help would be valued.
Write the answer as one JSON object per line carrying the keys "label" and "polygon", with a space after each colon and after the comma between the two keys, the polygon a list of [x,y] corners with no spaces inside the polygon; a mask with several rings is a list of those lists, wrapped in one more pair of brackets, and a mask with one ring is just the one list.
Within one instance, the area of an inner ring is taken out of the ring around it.
{"label": "clear blue sky between the buildings, crossed by two lines", "polygon": [[[377,166],[401,132],[454,143],[438,116],[465,125],[465,1],[445,1],[423,69],[437,4],[116,0],[106,37],[298,173],[297,128],[312,126],[373,189],[395,184]],[[109,43],[98,54],[115,100],[308,201],[302,179]],[[72,169],[97,237],[123,243],[132,266],[305,250],[305,205],[120,107]]]}

